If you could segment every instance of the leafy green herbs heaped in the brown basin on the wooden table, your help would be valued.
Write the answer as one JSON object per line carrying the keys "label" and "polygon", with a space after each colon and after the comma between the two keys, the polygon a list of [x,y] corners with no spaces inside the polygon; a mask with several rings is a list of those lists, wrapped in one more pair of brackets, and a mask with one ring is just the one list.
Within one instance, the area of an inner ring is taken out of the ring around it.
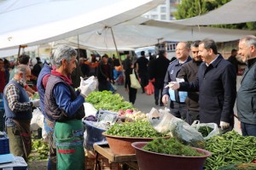
{"label": "leafy green herbs heaped in the brown basin on the wooden table", "polygon": [[148,121],[115,123],[107,134],[122,137],[159,138],[166,134],[158,133]]}

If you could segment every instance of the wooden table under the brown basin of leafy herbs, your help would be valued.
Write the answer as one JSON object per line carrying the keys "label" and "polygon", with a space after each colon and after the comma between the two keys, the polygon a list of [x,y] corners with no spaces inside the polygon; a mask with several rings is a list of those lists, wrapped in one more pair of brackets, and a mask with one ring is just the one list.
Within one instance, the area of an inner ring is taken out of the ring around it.
{"label": "wooden table under the brown basin of leafy herbs", "polygon": [[[112,150],[110,150],[108,145],[98,145],[94,144],[93,148],[96,152],[96,160],[94,170],[101,169],[100,161],[98,160],[99,155],[102,155],[108,159],[111,163],[122,163],[123,165],[127,164],[130,167],[139,169],[137,166],[137,157],[135,154],[131,155],[114,155]],[[123,167],[125,169],[125,166]]]}

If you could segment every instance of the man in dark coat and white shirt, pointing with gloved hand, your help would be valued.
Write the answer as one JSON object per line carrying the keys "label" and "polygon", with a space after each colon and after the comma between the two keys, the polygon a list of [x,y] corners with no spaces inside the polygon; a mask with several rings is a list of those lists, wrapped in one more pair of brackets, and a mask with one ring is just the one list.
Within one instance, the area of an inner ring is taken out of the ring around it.
{"label": "man in dark coat and white shirt, pointing with gloved hand", "polygon": [[234,127],[236,72],[233,65],[218,54],[211,39],[200,42],[199,55],[204,61],[195,82],[172,82],[172,89],[199,91],[200,122],[215,122],[222,129]]}

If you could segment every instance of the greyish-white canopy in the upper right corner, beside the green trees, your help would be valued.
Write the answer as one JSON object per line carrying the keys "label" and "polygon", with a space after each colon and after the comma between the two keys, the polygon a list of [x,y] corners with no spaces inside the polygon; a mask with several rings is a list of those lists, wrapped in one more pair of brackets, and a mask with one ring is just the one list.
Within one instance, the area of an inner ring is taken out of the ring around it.
{"label": "greyish-white canopy in the upper right corner, beside the green trees", "polygon": [[255,0],[232,0],[207,14],[184,20],[172,20],[171,22],[186,26],[238,24],[256,21],[255,16]]}

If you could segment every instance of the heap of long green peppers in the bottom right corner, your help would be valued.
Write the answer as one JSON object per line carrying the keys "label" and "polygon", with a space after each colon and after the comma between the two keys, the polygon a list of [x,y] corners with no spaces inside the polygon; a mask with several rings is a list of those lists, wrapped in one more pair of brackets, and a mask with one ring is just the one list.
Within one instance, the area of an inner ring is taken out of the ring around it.
{"label": "heap of long green peppers in the bottom right corner", "polygon": [[256,137],[241,136],[233,130],[207,139],[205,149],[212,152],[212,156],[207,158],[204,170],[217,170],[218,167],[235,163],[251,163],[256,159]]}

